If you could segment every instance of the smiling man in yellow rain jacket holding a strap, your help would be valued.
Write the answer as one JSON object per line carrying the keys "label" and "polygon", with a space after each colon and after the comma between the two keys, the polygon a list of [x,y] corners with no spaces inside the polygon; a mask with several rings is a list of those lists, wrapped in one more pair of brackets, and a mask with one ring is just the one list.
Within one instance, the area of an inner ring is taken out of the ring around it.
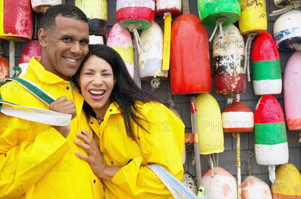
{"label": "smiling man in yellow rain jacket holding a strap", "polygon": [[[76,132],[89,129],[92,134],[82,111],[84,99],[70,81],[88,53],[88,19],[73,5],[55,5],[43,15],[38,36],[41,59],[32,58],[22,77],[58,98],[50,107],[61,107],[61,112],[75,118],[69,130],[68,126],[64,129],[47,121],[32,122],[0,113],[0,197],[103,198],[101,181],[87,162],[75,156],[76,151],[85,153],[74,144]],[[1,87],[1,95],[16,104],[49,109],[13,81]]]}

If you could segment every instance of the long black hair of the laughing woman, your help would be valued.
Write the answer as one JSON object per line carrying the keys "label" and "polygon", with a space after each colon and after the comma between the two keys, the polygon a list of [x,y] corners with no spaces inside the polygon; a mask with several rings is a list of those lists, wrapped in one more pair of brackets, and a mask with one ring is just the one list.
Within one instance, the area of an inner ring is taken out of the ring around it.
{"label": "long black hair of the laughing woman", "polygon": [[[106,62],[108,62],[113,70],[113,75],[117,79],[116,83],[112,89],[110,100],[111,102],[117,102],[119,109],[121,110],[125,122],[126,134],[128,137],[131,137],[135,140],[135,135],[133,132],[133,127],[130,122],[130,118],[142,129],[147,131],[141,124],[140,120],[147,121],[145,115],[143,115],[136,103],[145,103],[148,101],[158,101],[159,99],[152,94],[149,94],[141,90],[135,82],[131,79],[130,74],[128,73],[123,59],[117,51],[113,48],[108,47],[103,44],[89,44],[89,52],[83,59],[79,69],[76,74],[72,76],[75,85],[80,89],[78,84],[78,75],[80,74],[81,68],[85,61],[91,56],[96,55]],[[84,101],[83,109],[88,115],[96,117],[92,107]],[[138,117],[136,113],[140,113],[142,117]],[[148,131],[147,131],[148,132]]]}

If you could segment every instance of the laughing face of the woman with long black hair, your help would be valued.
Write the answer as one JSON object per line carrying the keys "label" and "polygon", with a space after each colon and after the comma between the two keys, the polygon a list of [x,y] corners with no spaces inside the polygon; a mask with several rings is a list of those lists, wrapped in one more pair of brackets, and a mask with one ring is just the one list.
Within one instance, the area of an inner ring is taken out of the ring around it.
{"label": "laughing face of the woman with long black hair", "polygon": [[91,55],[81,68],[79,85],[82,95],[100,117],[103,117],[110,105],[115,82],[111,65],[96,55]]}

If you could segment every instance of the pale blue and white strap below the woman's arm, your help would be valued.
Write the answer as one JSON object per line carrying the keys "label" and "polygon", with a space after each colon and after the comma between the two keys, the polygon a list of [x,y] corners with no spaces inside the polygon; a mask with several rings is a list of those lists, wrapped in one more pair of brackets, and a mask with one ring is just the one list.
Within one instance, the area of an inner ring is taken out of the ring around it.
{"label": "pale blue and white strap below the woman's arm", "polygon": [[199,198],[160,164],[154,163],[146,166],[161,179],[175,198]]}

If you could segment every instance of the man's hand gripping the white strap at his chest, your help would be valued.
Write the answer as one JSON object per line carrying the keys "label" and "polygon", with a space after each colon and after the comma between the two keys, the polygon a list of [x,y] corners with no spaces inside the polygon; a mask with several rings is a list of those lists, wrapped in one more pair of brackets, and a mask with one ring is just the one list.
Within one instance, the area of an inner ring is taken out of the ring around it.
{"label": "man's hand gripping the white strap at his chest", "polygon": [[[71,119],[76,116],[75,104],[72,100],[67,100],[66,96],[57,98],[49,105],[49,109],[64,114],[72,114]],[[70,133],[70,123],[67,126],[52,125],[52,127],[59,131],[64,137],[67,137]]]}

